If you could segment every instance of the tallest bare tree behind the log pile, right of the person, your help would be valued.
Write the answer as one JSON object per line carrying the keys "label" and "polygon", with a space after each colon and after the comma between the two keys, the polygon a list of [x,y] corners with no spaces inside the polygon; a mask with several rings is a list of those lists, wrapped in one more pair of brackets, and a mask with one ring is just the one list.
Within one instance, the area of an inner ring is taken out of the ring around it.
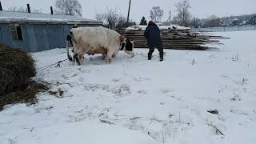
{"label": "tallest bare tree behind the log pile, right of the person", "polygon": [[182,0],[178,2],[176,5],[177,15],[174,17],[174,23],[180,26],[189,26],[190,24],[190,1],[189,0]]}

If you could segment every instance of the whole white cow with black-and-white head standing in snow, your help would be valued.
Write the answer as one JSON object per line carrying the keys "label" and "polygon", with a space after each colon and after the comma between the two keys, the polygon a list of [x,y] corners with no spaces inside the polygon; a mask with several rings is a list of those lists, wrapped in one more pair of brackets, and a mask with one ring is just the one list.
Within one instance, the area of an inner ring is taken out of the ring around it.
{"label": "whole white cow with black-and-white head standing in snow", "polygon": [[[70,61],[76,60],[78,65],[85,54],[102,54],[106,63],[118,54],[118,50],[124,50],[126,54],[134,56],[134,42],[125,38],[118,32],[100,27],[78,27],[70,30],[66,37],[67,56]],[[74,56],[69,54],[68,42],[73,46]]]}

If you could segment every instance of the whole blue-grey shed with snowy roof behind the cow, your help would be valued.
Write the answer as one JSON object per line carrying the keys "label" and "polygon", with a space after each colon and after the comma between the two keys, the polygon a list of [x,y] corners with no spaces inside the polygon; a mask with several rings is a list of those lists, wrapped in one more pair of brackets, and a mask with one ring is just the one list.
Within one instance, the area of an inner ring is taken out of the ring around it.
{"label": "whole blue-grey shed with snowy roof behind the cow", "polygon": [[102,26],[102,22],[71,15],[0,11],[0,43],[29,52],[66,46],[74,26]]}

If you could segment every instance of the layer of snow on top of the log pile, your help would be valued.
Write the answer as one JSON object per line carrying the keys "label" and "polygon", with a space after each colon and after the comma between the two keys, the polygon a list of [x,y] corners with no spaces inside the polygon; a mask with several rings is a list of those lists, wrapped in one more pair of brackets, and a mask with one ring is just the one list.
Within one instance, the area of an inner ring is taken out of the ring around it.
{"label": "layer of snow on top of the log pile", "polygon": [[[190,27],[184,27],[184,26],[176,26],[176,25],[170,25],[170,26],[159,26],[160,30],[190,30]],[[127,27],[126,30],[146,30],[146,26],[130,26]]]}

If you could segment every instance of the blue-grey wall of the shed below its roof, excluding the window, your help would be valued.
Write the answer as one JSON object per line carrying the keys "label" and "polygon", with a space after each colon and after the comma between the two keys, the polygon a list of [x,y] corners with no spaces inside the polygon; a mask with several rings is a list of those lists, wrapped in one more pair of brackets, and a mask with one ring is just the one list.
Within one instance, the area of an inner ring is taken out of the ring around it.
{"label": "blue-grey wall of the shed below its roof, excluding the window", "polygon": [[[0,43],[29,52],[66,47],[66,34],[74,25],[22,23],[22,41],[14,41],[10,24],[0,23]],[[100,25],[78,25],[100,26]]]}

